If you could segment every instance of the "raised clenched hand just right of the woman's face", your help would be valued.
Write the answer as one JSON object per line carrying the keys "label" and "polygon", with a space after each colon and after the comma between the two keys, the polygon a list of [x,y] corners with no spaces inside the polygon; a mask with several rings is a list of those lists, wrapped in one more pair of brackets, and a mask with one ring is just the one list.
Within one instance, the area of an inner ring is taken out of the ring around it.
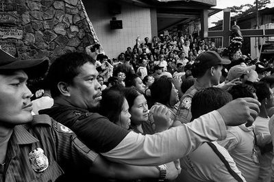
{"label": "raised clenched hand just right of the woman's face", "polygon": [[156,132],[165,131],[173,125],[173,120],[171,120],[169,109],[163,105],[155,106],[153,120]]}

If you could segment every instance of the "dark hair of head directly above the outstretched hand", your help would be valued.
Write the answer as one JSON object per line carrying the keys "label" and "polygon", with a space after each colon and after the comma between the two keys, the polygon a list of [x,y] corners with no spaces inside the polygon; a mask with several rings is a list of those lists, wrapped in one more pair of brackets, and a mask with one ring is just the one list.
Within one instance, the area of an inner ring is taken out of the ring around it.
{"label": "dark hair of head directly above the outstretched hand", "polygon": [[251,85],[240,84],[240,85],[233,86],[228,92],[232,94],[233,99],[244,98],[244,97],[254,98],[253,93],[256,92],[256,89]]}

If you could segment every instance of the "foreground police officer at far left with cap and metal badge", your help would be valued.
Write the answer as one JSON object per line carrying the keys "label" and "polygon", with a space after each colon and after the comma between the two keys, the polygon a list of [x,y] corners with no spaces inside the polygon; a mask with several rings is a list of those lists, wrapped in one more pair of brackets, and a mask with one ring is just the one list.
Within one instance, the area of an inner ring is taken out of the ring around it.
{"label": "foreground police officer at far left with cap and metal badge", "polygon": [[[47,115],[32,116],[27,79],[44,75],[48,66],[46,58],[18,60],[0,49],[0,181],[103,181],[98,175],[105,179],[160,177],[160,169],[153,166],[105,161],[69,128]],[[173,169],[173,173],[165,170],[166,178],[177,177],[175,166]]]}

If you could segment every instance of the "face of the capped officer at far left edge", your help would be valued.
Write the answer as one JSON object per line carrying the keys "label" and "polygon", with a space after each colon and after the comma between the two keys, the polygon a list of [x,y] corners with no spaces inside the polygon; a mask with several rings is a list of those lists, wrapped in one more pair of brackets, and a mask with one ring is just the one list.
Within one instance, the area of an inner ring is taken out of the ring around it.
{"label": "face of the capped officer at far left edge", "polygon": [[16,70],[0,75],[0,125],[21,125],[32,121],[32,92],[27,88],[27,74]]}

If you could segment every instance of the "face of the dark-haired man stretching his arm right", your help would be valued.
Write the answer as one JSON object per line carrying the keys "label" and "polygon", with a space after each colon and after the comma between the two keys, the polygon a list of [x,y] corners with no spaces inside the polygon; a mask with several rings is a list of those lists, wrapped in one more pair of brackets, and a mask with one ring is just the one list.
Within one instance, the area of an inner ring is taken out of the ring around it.
{"label": "face of the dark-haired man stretching his arm right", "polygon": [[79,75],[74,77],[73,83],[68,86],[69,101],[72,105],[82,109],[93,109],[99,106],[102,97],[97,76],[95,65],[90,62],[79,68]]}

